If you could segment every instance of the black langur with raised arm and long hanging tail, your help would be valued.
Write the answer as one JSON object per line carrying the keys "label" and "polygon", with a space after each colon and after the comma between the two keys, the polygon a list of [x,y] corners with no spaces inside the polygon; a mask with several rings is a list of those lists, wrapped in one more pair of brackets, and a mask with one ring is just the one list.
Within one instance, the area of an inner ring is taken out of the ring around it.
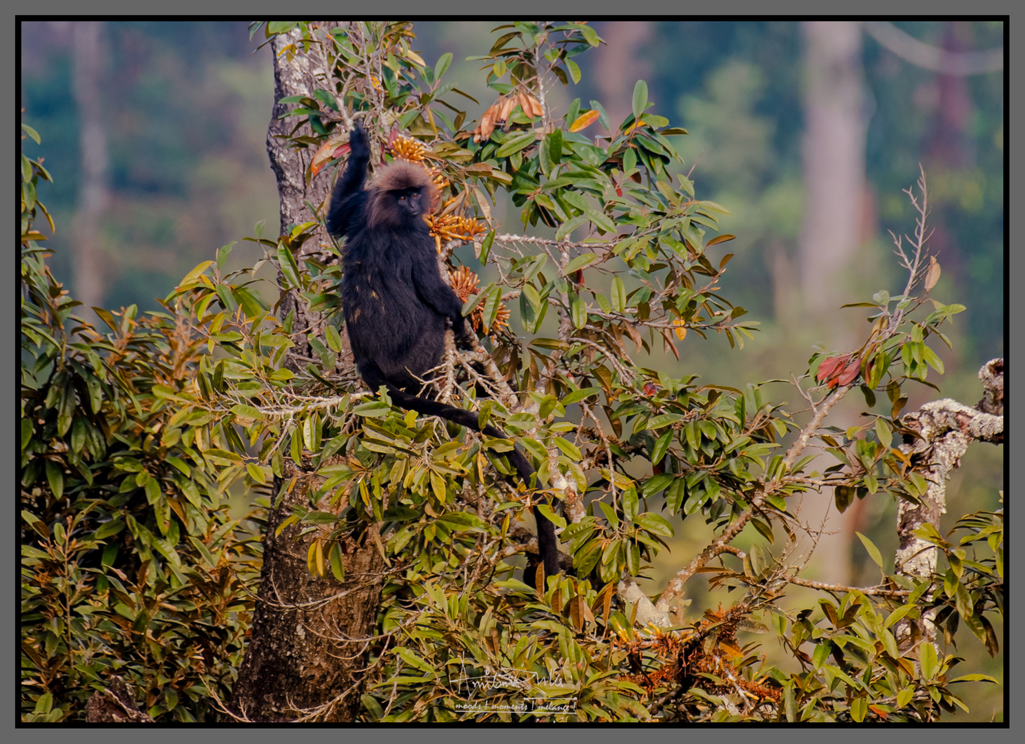
{"label": "black langur with raised arm and long hanging tail", "polygon": [[[462,302],[442,279],[423,219],[434,210],[438,191],[424,168],[400,162],[381,168],[364,189],[370,147],[359,123],[348,141],[350,158],[331,194],[327,230],[336,239],[347,236],[341,309],[356,368],[371,390],[384,385],[396,405],[481,431],[473,411],[421,394],[425,375],[441,363],[449,324],[459,341],[473,332]],[[506,439],[494,426],[483,432]],[[515,447],[508,458],[529,488],[530,462]],[[544,573],[554,576],[559,573],[556,529],[536,506],[534,515]]]}

